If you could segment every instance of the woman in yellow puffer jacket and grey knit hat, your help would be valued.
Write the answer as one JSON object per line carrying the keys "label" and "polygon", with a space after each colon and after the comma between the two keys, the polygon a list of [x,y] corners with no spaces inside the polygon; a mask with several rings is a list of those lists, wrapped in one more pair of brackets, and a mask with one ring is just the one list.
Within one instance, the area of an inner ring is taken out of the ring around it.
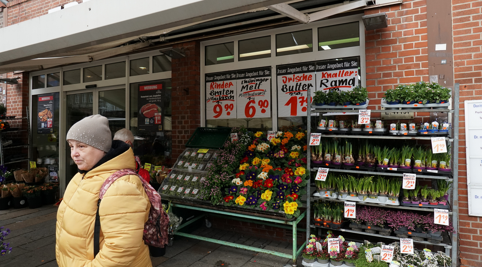
{"label": "woman in yellow puffer jacket and grey knit hat", "polygon": [[107,118],[93,115],[67,133],[79,168],[57,211],[55,254],[59,267],[152,267],[142,240],[150,203],[137,176],[118,178],[99,206],[100,251],[94,256],[94,222],[102,183],[120,169],[135,169],[131,147],[111,140]]}

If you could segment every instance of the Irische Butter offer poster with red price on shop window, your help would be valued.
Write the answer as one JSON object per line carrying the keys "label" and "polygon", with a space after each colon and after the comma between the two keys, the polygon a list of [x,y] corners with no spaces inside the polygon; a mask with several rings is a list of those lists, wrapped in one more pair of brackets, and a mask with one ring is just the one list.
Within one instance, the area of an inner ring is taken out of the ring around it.
{"label": "Irische Butter offer poster with red price on shop window", "polygon": [[315,95],[315,63],[289,64],[276,67],[278,116],[306,116],[308,95]]}

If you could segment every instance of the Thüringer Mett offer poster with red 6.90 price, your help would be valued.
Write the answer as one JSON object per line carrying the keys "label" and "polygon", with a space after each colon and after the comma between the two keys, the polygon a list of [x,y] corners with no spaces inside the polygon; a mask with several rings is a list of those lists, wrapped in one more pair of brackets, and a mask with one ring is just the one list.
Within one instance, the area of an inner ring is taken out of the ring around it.
{"label": "Th\u00fcringer Mett offer poster with red 6.90 price", "polygon": [[236,72],[237,117],[271,117],[271,67]]}

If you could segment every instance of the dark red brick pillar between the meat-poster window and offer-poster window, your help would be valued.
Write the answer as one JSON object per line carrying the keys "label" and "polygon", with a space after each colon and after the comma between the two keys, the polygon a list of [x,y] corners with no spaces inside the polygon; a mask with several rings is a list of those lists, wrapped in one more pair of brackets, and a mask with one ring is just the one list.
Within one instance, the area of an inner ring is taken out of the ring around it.
{"label": "dark red brick pillar between the meat-poster window and offer-poster window", "polygon": [[172,60],[172,158],[176,159],[194,130],[201,126],[201,51],[199,41],[173,47],[186,55]]}

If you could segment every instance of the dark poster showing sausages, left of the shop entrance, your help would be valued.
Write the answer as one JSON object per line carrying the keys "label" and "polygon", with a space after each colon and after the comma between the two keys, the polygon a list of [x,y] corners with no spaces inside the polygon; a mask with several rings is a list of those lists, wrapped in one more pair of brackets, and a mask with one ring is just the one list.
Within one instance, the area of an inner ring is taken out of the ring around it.
{"label": "dark poster showing sausages, left of the shop entrance", "polygon": [[54,93],[41,94],[38,97],[37,133],[52,133],[54,132]]}

